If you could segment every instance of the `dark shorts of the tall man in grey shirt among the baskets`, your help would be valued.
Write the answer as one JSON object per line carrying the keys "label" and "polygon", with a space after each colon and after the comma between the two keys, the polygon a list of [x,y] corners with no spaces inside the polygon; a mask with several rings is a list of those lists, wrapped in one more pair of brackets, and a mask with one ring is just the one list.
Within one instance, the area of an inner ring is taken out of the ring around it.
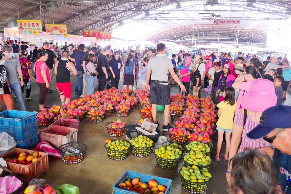
{"label": "dark shorts of the tall man in grey shirt among the baskets", "polygon": [[171,99],[169,85],[163,85],[157,82],[152,82],[149,95],[149,102],[152,104],[170,105]]}

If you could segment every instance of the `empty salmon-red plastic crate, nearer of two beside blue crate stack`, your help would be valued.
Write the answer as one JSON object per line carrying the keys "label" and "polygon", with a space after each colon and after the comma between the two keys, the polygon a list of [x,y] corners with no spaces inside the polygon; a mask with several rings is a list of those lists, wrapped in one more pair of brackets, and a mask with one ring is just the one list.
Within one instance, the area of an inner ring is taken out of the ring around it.
{"label": "empty salmon-red plastic crate, nearer of two beside blue crate stack", "polygon": [[77,142],[77,134],[78,129],[59,125],[50,125],[48,128],[39,131],[39,138],[41,142],[48,142],[52,146],[59,148],[66,143]]}

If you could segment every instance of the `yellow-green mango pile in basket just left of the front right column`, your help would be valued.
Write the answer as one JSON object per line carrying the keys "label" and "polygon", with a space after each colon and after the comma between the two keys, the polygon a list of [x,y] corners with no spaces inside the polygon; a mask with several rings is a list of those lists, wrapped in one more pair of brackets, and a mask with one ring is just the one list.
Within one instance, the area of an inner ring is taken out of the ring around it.
{"label": "yellow-green mango pile in basket just left of the front right column", "polygon": [[180,147],[180,145],[173,143],[155,149],[155,154],[163,159],[179,159],[182,155],[181,149],[182,146]]}

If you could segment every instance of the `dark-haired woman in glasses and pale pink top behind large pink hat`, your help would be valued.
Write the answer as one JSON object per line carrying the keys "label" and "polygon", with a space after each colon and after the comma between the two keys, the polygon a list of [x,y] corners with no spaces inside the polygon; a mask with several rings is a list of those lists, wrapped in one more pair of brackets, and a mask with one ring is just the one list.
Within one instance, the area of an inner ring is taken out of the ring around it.
{"label": "dark-haired woman in glasses and pale pink top behind large pink hat", "polygon": [[236,112],[242,108],[240,105],[242,102],[242,97],[246,92],[249,92],[249,87],[256,79],[260,78],[257,74],[257,70],[254,66],[247,66],[245,71],[243,72],[243,79],[239,79],[238,81],[232,84],[232,87],[235,90],[240,90],[239,96],[237,97],[236,103]]}

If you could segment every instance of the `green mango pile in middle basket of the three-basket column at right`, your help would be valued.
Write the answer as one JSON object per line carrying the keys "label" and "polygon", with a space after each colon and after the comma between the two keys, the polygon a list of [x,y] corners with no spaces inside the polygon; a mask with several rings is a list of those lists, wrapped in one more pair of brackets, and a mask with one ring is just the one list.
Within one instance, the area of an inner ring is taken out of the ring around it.
{"label": "green mango pile in middle basket of the three-basket column at right", "polygon": [[207,166],[211,163],[210,157],[206,156],[200,150],[187,152],[183,158],[188,164],[196,166]]}

